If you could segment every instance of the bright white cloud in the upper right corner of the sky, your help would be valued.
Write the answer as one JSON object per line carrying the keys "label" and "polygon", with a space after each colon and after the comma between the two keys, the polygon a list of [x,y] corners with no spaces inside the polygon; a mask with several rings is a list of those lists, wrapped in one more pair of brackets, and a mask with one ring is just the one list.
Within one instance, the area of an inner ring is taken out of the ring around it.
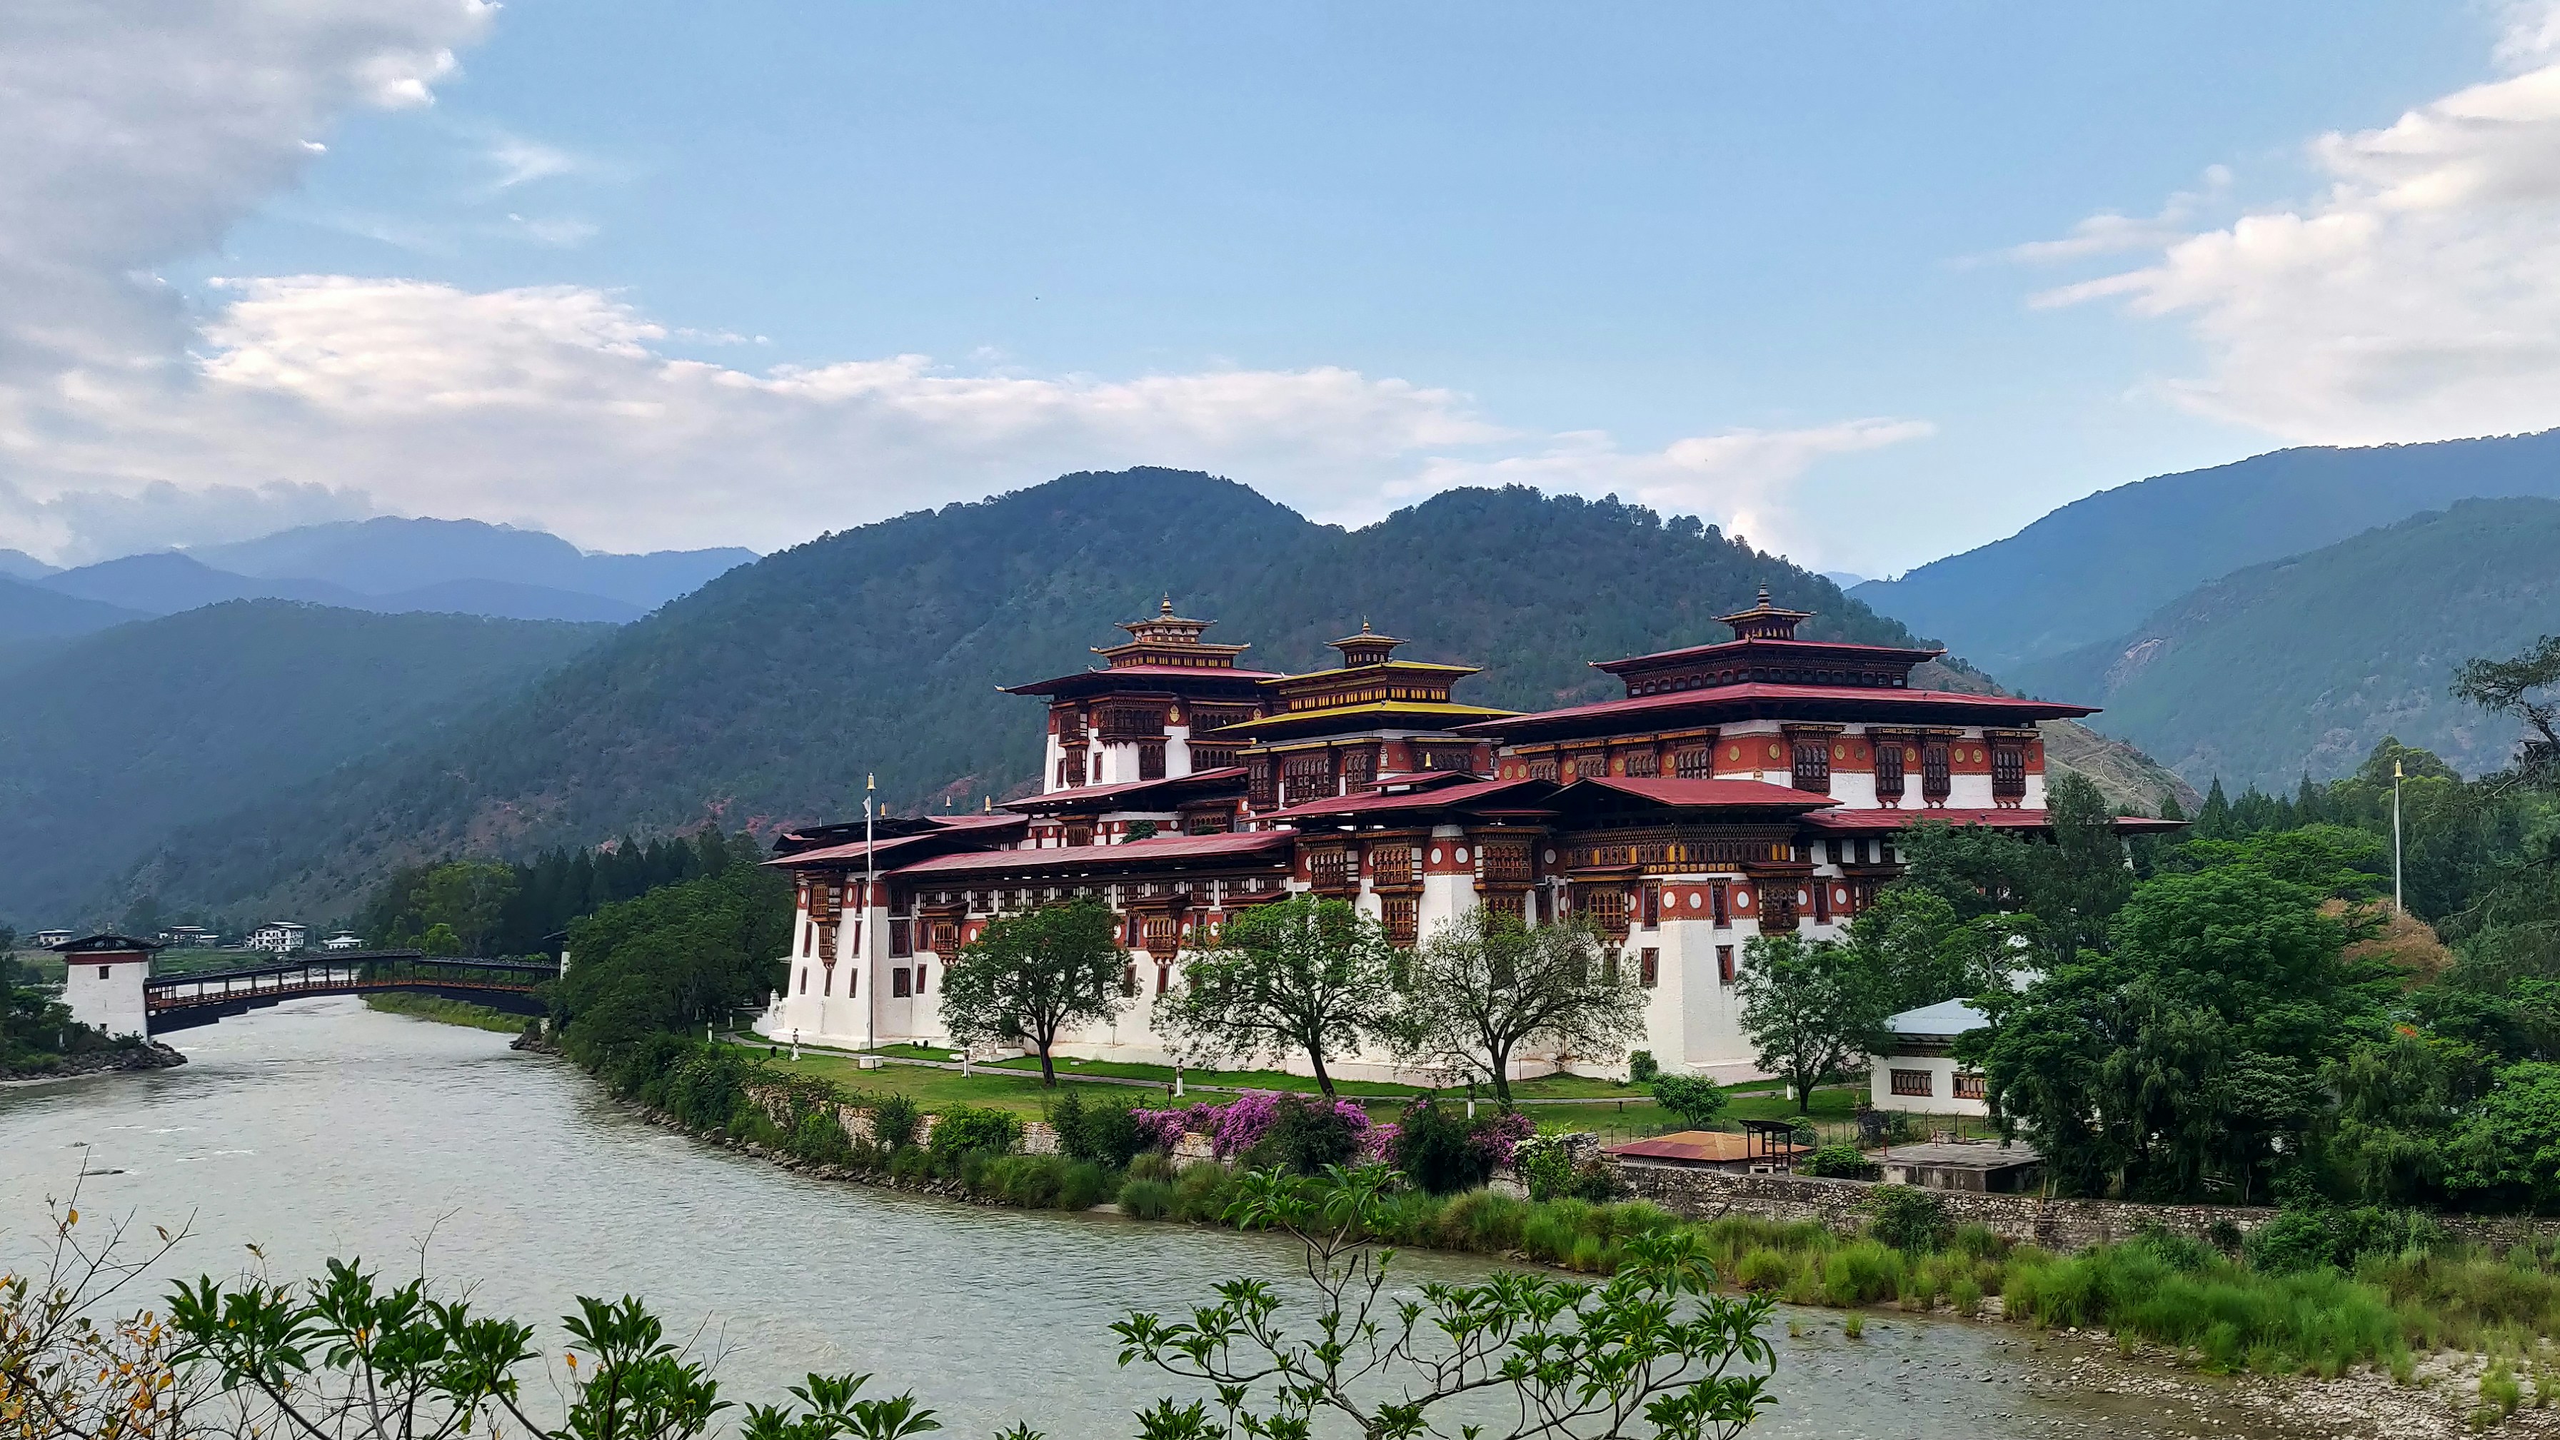
{"label": "bright white cloud in the upper right corner of the sky", "polygon": [[2209,368],[2163,391],[2289,440],[2560,425],[2555,46],[2560,8],[2511,8],[2499,46],[2511,74],[2376,130],[2319,136],[2317,200],[2173,235],[2148,266],[2038,302],[2115,297],[2184,320]]}

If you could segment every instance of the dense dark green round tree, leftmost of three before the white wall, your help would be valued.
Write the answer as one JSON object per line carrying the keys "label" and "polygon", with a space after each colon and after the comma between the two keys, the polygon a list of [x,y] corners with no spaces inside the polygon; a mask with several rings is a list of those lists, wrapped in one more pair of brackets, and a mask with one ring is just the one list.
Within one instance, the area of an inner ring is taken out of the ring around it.
{"label": "dense dark green round tree, leftmost of three before the white wall", "polygon": [[942,972],[942,1023],[963,1044],[1032,1046],[1039,1082],[1057,1084],[1050,1046],[1119,1013],[1121,964],[1119,921],[1101,900],[1004,916]]}

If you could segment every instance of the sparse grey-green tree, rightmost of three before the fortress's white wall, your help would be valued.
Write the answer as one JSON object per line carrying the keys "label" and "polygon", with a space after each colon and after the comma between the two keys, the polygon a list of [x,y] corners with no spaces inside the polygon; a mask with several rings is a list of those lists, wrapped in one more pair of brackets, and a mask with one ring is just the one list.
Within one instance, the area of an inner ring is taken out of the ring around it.
{"label": "sparse grey-green tree, rightmost of three before the fortress's white wall", "polygon": [[1582,923],[1531,928],[1477,905],[1434,931],[1405,969],[1405,1003],[1388,1026],[1398,1054],[1482,1077],[1503,1105],[1523,1049],[1615,1056],[1644,1036],[1644,992],[1605,974],[1600,936]]}

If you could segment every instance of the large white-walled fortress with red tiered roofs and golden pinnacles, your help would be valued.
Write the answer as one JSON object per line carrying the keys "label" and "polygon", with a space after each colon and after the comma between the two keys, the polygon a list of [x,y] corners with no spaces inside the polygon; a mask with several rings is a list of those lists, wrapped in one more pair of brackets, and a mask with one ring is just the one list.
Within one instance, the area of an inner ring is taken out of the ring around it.
{"label": "large white-walled fortress with red tiered roofs and golden pinnacles", "polygon": [[[937,977],[996,916],[1096,898],[1121,916],[1124,1008],[1057,1049],[1172,1059],[1149,1026],[1183,957],[1242,908],[1313,893],[1426,941],[1472,908],[1587,921],[1646,990],[1664,1069],[1756,1077],[1733,995],[1761,934],[1838,936],[1900,875],[1920,818],[2045,824],[2045,719],[2089,706],[1928,691],[1938,650],[1795,639],[1805,611],[1595,662],[1623,696],[1510,714],[1457,698],[1469,665],[1359,632],[1339,665],[1247,670],[1167,599],[1103,665],[1009,693],[1047,701],[1042,788],[980,816],[783,834],[796,875],[786,990],[758,1028],[817,1044],[947,1044]],[[2125,829],[2158,821],[2130,818]],[[1526,1056],[1608,1069],[1618,1056]],[[1303,1056],[1298,1059],[1303,1064]],[[1388,1056],[1331,1067],[1395,1077]]]}

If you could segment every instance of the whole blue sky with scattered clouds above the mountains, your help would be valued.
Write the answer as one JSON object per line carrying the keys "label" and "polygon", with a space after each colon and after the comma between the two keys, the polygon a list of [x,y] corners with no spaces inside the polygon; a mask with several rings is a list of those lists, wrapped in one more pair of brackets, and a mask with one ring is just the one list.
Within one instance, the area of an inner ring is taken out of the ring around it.
{"label": "whole blue sky with scattered clouds above the mountains", "polygon": [[0,547],[1137,463],[1864,575],[2560,425],[2560,3],[15,0]]}

